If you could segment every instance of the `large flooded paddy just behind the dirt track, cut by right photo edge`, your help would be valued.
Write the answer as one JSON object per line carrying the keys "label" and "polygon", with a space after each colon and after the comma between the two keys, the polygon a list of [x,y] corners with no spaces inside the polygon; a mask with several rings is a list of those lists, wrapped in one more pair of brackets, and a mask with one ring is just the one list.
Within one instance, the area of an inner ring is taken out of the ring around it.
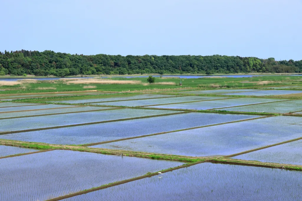
{"label": "large flooded paddy just behind the dirt track, cut by right photo edge", "polygon": [[301,137],[301,121],[300,117],[275,116],[92,147],[185,156],[231,155]]}

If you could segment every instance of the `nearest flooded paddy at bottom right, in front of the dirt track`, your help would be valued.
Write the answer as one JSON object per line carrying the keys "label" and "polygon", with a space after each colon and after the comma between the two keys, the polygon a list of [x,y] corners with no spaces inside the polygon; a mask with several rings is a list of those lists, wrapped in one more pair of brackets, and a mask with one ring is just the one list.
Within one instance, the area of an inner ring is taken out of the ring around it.
{"label": "nearest flooded paddy at bottom right, in front of the dirt track", "polygon": [[80,200],[300,200],[302,172],[201,163],[74,196]]}

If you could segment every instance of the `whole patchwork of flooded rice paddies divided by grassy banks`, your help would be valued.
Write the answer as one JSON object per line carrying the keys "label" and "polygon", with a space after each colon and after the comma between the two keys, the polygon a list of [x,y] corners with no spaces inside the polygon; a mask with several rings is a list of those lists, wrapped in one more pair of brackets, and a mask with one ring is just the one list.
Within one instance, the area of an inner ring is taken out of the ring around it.
{"label": "whole patchwork of flooded rice paddies divided by grassy banks", "polygon": [[259,90],[0,102],[0,200],[301,200],[302,91]]}

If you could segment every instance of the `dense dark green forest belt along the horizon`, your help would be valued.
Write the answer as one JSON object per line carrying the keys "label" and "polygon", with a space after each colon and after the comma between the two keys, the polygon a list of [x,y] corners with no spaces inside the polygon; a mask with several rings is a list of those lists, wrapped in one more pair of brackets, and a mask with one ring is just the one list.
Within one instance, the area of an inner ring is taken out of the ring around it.
{"label": "dense dark green forest belt along the horizon", "polygon": [[302,60],[239,56],[71,55],[45,50],[0,52],[0,75],[301,73]]}

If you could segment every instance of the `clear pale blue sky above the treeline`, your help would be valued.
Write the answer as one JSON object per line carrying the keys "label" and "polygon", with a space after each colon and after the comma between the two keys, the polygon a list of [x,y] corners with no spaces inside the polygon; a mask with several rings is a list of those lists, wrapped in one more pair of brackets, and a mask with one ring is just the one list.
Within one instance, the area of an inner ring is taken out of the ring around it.
{"label": "clear pale blue sky above the treeline", "polygon": [[302,0],[1,1],[0,50],[302,59]]}

